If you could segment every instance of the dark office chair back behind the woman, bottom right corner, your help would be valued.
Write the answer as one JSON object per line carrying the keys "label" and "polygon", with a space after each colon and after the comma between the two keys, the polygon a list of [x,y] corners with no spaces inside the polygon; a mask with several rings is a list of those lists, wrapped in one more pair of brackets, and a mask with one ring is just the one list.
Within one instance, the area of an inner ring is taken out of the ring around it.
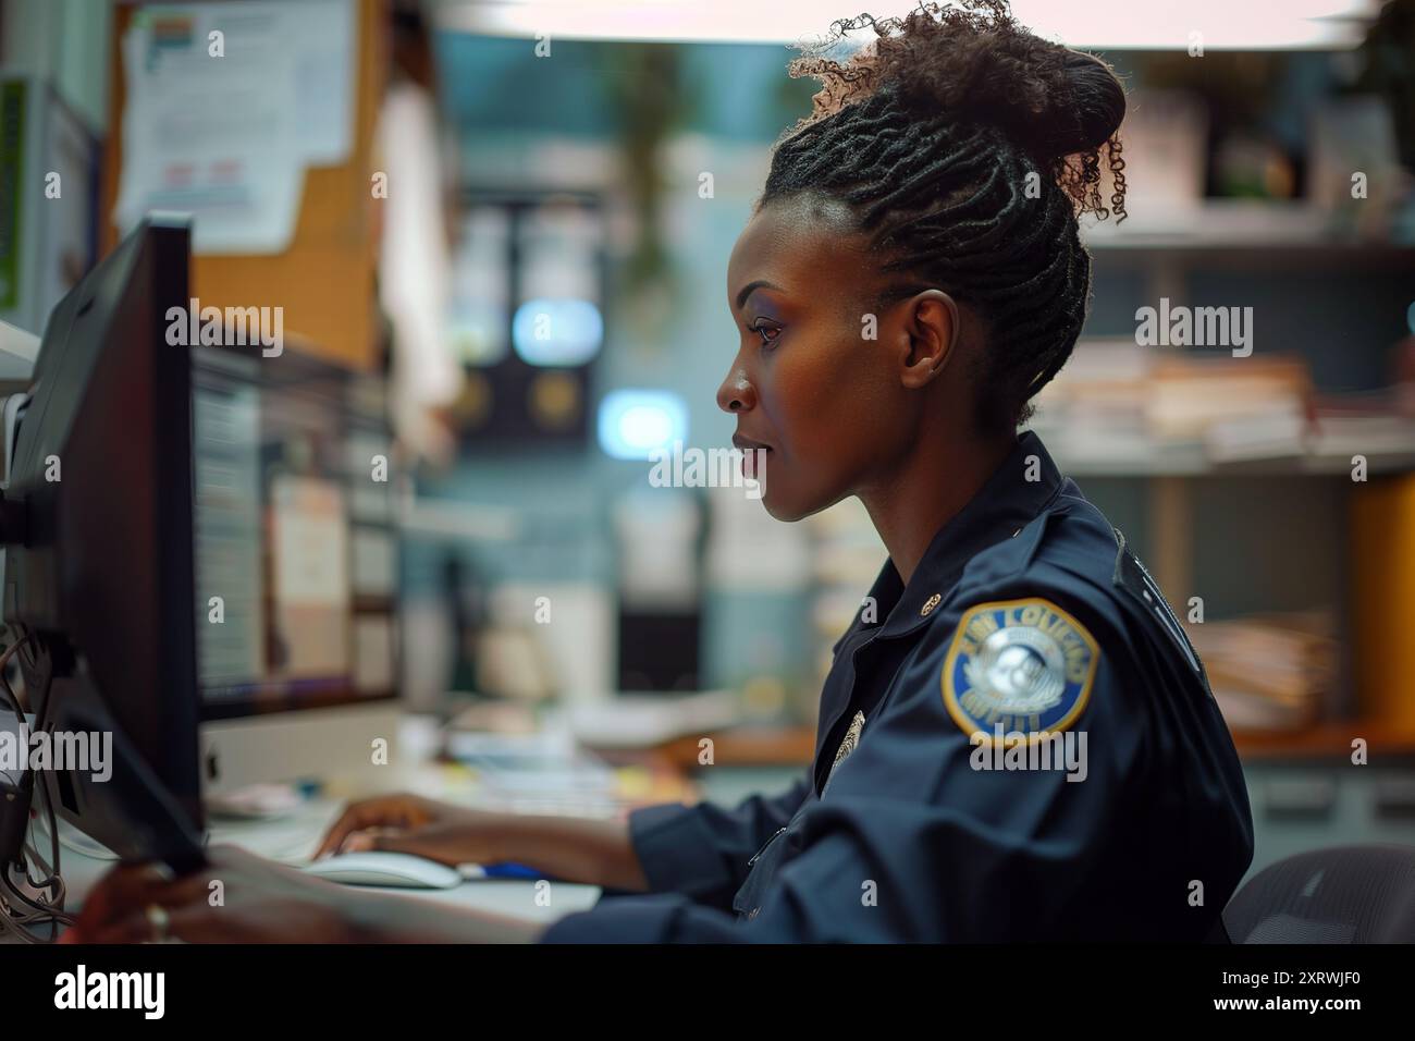
{"label": "dark office chair back behind the woman, bottom right corner", "polygon": [[1234,943],[1415,943],[1415,846],[1339,846],[1269,864],[1224,908]]}

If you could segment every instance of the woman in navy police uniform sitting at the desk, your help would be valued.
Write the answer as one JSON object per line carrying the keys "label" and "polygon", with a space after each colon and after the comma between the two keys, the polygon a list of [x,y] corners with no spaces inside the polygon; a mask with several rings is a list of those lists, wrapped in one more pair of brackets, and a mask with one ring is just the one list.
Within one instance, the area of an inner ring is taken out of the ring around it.
{"label": "woman in navy police uniform sitting at the desk", "polygon": [[792,67],[824,89],[727,268],[740,341],[717,401],[764,450],[767,510],[859,496],[889,550],[805,776],[614,824],[391,796],[324,840],[620,891],[545,932],[216,851],[175,882],[119,870],[79,938],[1221,938],[1252,824],[1203,666],[1124,537],[1017,436],[1081,331],[1102,154],[1124,217],[1124,92],[1000,3],[836,30],[866,24],[848,64]]}

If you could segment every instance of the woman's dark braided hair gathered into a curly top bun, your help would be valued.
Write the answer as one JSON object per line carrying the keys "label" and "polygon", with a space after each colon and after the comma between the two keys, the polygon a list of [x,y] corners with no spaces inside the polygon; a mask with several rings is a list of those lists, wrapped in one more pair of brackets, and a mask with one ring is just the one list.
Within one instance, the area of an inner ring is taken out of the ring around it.
{"label": "woman's dark braided hair gathered into a curly top bun", "polygon": [[[1125,93],[1098,58],[1019,27],[1006,0],[962,3],[842,18],[804,48],[790,74],[822,89],[773,146],[756,208],[797,195],[843,203],[890,276],[876,309],[928,288],[972,306],[986,329],[979,423],[1016,429],[1085,322],[1078,215],[1114,208],[1125,220]],[[826,57],[865,25],[876,40],[845,62]]]}

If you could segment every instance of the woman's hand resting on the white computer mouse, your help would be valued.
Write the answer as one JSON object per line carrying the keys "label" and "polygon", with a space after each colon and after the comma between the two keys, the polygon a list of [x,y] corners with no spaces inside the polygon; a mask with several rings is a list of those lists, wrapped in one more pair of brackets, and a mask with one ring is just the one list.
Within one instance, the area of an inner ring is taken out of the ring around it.
{"label": "woman's hand resting on the white computer mouse", "polygon": [[449,806],[416,795],[386,795],[350,803],[334,821],[316,857],[354,850],[392,850],[426,860],[490,864],[508,857],[499,813]]}

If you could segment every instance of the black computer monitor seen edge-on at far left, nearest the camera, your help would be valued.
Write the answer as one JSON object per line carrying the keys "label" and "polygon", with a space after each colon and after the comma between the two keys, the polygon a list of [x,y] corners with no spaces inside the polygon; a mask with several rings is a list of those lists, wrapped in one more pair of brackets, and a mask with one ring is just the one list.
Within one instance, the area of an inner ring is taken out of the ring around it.
{"label": "black computer monitor seen edge-on at far left, nearest the camera", "polygon": [[174,867],[200,863],[202,823],[191,357],[164,336],[190,241],[185,218],[151,215],[54,309],[0,513],[31,710],[113,735],[108,779],[44,773],[51,804],[125,858]]}

